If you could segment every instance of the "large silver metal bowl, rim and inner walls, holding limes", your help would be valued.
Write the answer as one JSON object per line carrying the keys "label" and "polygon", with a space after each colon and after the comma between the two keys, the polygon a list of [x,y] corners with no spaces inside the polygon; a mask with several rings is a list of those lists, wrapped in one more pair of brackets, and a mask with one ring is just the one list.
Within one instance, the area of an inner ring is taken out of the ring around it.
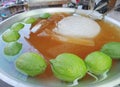
{"label": "large silver metal bowl, rim and inner walls, holding limes", "polygon": [[[74,9],[71,8],[44,8],[44,9],[37,9],[28,12],[24,12],[21,14],[17,14],[8,18],[7,20],[0,23],[0,34],[2,34],[6,29],[8,29],[12,24],[23,20],[28,16],[37,16],[41,13],[45,12],[67,12],[73,13]],[[104,21],[108,21],[115,26],[120,27],[120,22],[105,16]],[[1,43],[0,43],[1,46]],[[2,55],[2,56],[1,56]],[[44,87],[44,84],[47,84],[48,87],[66,87],[67,85],[62,82],[57,81],[50,81],[50,82],[42,82],[38,81],[34,78],[27,78],[26,76],[22,75],[21,73],[17,72],[13,66],[13,62],[6,61],[2,52],[0,52],[0,79],[7,82],[10,85],[16,87]],[[49,77],[48,77],[49,78]],[[78,86],[80,87],[113,87],[117,84],[120,84],[120,61],[117,60],[117,63],[112,67],[111,71],[109,72],[108,77],[101,82],[91,83],[89,79],[81,81]]]}

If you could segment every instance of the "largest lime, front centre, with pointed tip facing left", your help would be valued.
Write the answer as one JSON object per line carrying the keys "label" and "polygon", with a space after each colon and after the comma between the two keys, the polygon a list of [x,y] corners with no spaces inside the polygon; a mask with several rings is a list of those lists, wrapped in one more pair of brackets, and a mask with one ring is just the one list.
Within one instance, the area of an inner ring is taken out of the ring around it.
{"label": "largest lime, front centre, with pointed tip facing left", "polygon": [[54,75],[63,81],[73,82],[85,76],[87,69],[84,61],[70,53],[63,53],[50,60]]}

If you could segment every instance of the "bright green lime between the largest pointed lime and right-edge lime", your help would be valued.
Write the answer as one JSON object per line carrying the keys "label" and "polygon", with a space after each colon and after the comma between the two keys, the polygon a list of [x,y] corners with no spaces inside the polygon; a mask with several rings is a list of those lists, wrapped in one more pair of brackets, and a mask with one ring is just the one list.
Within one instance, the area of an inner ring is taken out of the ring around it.
{"label": "bright green lime between the largest pointed lime and right-edge lime", "polygon": [[95,75],[102,75],[110,70],[112,59],[108,55],[96,51],[85,58],[85,63],[89,72]]}

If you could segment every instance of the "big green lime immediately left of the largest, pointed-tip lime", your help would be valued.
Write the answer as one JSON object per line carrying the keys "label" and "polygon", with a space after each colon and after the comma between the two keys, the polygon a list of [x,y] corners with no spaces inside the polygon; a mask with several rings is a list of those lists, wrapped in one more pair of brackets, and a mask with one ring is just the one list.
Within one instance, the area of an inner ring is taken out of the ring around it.
{"label": "big green lime immediately left of the largest, pointed-tip lime", "polygon": [[29,76],[41,74],[47,67],[45,60],[39,54],[33,52],[22,54],[15,64],[18,71]]}

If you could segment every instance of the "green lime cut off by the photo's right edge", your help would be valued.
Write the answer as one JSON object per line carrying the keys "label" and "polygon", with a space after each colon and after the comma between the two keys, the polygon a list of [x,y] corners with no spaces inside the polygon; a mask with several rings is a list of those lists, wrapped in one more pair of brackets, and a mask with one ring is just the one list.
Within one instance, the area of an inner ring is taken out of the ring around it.
{"label": "green lime cut off by the photo's right edge", "polygon": [[102,47],[101,51],[113,59],[120,59],[120,42],[109,42]]}

